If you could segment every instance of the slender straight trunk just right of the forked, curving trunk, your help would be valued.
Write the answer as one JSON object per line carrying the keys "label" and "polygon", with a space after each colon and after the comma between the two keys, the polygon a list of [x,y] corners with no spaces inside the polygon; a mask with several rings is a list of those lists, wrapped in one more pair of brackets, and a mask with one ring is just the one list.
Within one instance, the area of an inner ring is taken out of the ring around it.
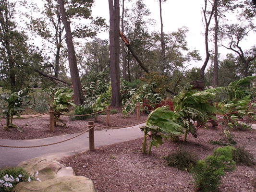
{"label": "slender straight trunk just right of the forked, curving trunk", "polygon": [[219,81],[218,81],[218,69],[219,69],[219,63],[218,63],[218,30],[219,30],[219,21],[218,21],[218,1],[214,0],[214,20],[215,20],[215,28],[214,28],[214,68],[213,68],[213,86],[218,87]]}

